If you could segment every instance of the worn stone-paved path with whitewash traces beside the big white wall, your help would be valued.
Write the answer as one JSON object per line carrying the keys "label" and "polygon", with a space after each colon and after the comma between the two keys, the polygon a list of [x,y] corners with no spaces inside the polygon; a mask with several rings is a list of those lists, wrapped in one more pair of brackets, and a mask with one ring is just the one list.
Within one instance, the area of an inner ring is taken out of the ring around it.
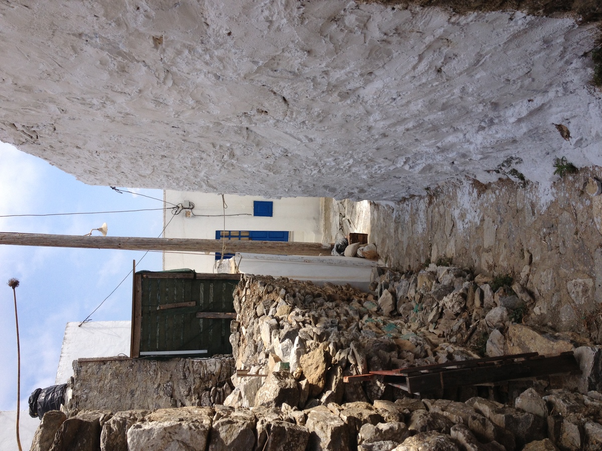
{"label": "worn stone-paved path with whitewash traces beside the big white wall", "polygon": [[397,203],[335,203],[330,215],[345,233],[369,233],[391,268],[443,258],[475,274],[510,274],[535,299],[536,324],[602,343],[602,195],[585,192],[600,174],[556,176],[550,189],[512,177],[458,180]]}

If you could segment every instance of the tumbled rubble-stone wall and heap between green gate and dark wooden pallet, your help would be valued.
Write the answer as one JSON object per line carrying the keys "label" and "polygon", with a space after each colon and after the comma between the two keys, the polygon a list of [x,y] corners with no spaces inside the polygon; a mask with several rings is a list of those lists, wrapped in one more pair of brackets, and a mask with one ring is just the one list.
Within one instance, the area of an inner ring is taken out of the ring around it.
{"label": "tumbled rubble-stone wall and heap between green gate and dark wooden pallet", "polygon": [[[602,388],[602,379],[595,376],[602,351],[579,334],[530,325],[535,303],[518,282],[507,286],[486,277],[475,280],[468,268],[432,264],[417,273],[381,270],[371,288],[364,293],[348,286],[243,275],[234,293],[234,359],[238,369],[267,378],[233,376],[235,388],[226,403],[259,407],[265,405],[266,392],[268,405],[273,407],[273,394],[281,393],[285,399],[279,402],[300,409],[394,400],[405,393],[378,381],[344,384],[343,376],[485,354],[572,350],[589,361],[583,376],[544,378],[545,387],[566,387],[571,381],[570,387],[583,393]],[[283,363],[288,375],[276,380],[271,375]],[[512,402],[524,387],[506,387],[500,400]],[[461,387],[445,396],[467,399],[477,393],[475,387]]]}

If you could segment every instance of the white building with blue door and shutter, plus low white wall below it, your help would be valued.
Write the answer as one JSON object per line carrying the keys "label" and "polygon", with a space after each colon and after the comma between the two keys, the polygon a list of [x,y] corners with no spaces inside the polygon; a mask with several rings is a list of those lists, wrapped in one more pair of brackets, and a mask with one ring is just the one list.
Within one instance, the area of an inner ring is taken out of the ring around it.
{"label": "white building with blue door and shutter, plus low white wall below it", "polygon": [[[224,200],[224,201],[223,201]],[[365,289],[375,262],[370,260],[327,256],[276,256],[228,252],[228,241],[297,241],[322,242],[323,198],[293,197],[265,199],[253,196],[203,194],[200,192],[164,191],[166,238],[223,239],[226,263],[218,265],[222,253],[163,253],[163,269],[190,268],[196,272],[230,272],[233,263],[240,272],[285,276],[311,280],[350,283]],[[226,207],[227,206],[227,207]],[[188,207],[188,208],[186,208]]]}

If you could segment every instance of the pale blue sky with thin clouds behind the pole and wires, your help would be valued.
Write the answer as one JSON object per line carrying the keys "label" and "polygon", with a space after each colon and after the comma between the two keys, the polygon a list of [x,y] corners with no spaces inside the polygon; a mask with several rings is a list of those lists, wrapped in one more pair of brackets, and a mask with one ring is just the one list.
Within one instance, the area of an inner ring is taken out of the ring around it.
{"label": "pale blue sky with thin clouds behind the pole and wires", "polygon": [[[159,189],[132,189],[163,198]],[[0,216],[15,214],[160,209],[163,203],[108,186],[88,186],[40,158],[0,143]],[[161,210],[100,215],[0,218],[1,232],[84,235],[108,224],[110,236],[157,237]],[[95,235],[99,235],[95,232]],[[21,346],[21,408],[31,391],[54,384],[64,328],[82,321],[119,284],[142,251],[0,245],[0,410],[16,408],[16,333],[11,277],[17,288]],[[148,253],[137,269],[161,269],[161,253]],[[132,283],[128,278],[93,321],[131,319]]]}

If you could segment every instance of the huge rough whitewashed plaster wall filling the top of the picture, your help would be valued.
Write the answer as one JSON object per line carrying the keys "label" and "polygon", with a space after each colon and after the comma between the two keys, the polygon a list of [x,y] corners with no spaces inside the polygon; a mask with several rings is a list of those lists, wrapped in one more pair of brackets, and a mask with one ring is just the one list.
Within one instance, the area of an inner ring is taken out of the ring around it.
{"label": "huge rough whitewashed plaster wall filling the top of the picture", "polygon": [[397,200],[508,157],[542,183],[557,157],[602,165],[594,23],[157,0],[7,3],[0,25],[0,139],[86,183]]}

